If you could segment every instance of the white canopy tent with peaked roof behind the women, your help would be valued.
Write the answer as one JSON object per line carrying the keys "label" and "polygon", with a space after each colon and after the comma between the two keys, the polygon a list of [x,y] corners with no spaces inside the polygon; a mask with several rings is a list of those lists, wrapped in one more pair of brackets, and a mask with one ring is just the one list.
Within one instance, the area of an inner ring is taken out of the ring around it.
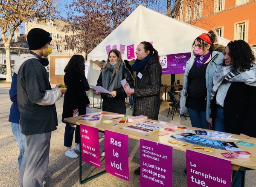
{"label": "white canopy tent with peaked roof behind the women", "polygon": [[[108,49],[120,50],[120,45],[125,45],[122,54],[123,60],[136,59],[136,47],[142,41],[153,42],[154,48],[160,56],[191,52],[191,46],[196,37],[206,30],[183,23],[166,15],[154,12],[144,6],[138,6],[108,37],[106,37],[87,56],[89,61],[89,84],[96,85],[99,78],[99,61],[106,60]],[[218,37],[218,44],[227,46],[229,40]],[[127,56],[127,46],[134,45],[130,55]],[[122,50],[122,49],[121,49]],[[120,50],[120,51],[121,51]],[[93,62],[94,61],[94,62]]]}

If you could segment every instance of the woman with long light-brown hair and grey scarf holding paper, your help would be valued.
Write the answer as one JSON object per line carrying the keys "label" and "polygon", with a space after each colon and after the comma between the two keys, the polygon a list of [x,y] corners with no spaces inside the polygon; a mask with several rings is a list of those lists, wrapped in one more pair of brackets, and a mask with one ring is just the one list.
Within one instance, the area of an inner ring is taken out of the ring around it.
{"label": "woman with long light-brown hair and grey scarf holding paper", "polygon": [[109,94],[96,92],[103,99],[103,111],[126,113],[125,98],[127,94],[121,84],[123,79],[126,79],[131,88],[134,87],[134,79],[131,72],[125,67],[121,53],[117,49],[112,49],[108,53],[108,59],[102,68],[96,85],[102,86],[110,92]]}

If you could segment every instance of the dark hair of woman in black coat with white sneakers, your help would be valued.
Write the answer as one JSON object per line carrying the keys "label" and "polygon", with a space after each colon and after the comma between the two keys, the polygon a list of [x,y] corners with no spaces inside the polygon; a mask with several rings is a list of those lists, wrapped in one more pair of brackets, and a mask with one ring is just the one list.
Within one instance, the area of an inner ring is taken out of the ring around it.
{"label": "dark hair of woman in black coat with white sneakers", "polygon": [[73,55],[70,58],[70,61],[67,63],[67,66],[64,69],[64,72],[66,73],[70,69],[74,69],[78,67],[80,69],[80,75],[85,74],[85,60],[82,55]]}

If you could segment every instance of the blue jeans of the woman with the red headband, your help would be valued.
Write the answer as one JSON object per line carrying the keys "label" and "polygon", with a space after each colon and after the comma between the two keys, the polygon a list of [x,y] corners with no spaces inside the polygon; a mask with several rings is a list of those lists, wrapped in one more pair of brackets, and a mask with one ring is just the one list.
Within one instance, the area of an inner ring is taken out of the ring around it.
{"label": "blue jeans of the woman with the red headband", "polygon": [[209,129],[209,123],[206,119],[206,111],[197,111],[192,108],[189,108],[189,118],[192,127]]}

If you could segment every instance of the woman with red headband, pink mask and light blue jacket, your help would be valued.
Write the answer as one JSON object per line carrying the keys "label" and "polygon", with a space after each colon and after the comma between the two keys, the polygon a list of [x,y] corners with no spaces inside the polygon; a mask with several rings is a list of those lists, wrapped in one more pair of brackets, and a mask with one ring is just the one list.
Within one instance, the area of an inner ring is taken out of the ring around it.
{"label": "woman with red headband, pink mask and light blue jacket", "polygon": [[189,112],[192,127],[209,129],[212,78],[224,58],[221,52],[214,51],[214,44],[217,44],[214,31],[198,36],[192,44],[191,58],[186,63],[180,115]]}

